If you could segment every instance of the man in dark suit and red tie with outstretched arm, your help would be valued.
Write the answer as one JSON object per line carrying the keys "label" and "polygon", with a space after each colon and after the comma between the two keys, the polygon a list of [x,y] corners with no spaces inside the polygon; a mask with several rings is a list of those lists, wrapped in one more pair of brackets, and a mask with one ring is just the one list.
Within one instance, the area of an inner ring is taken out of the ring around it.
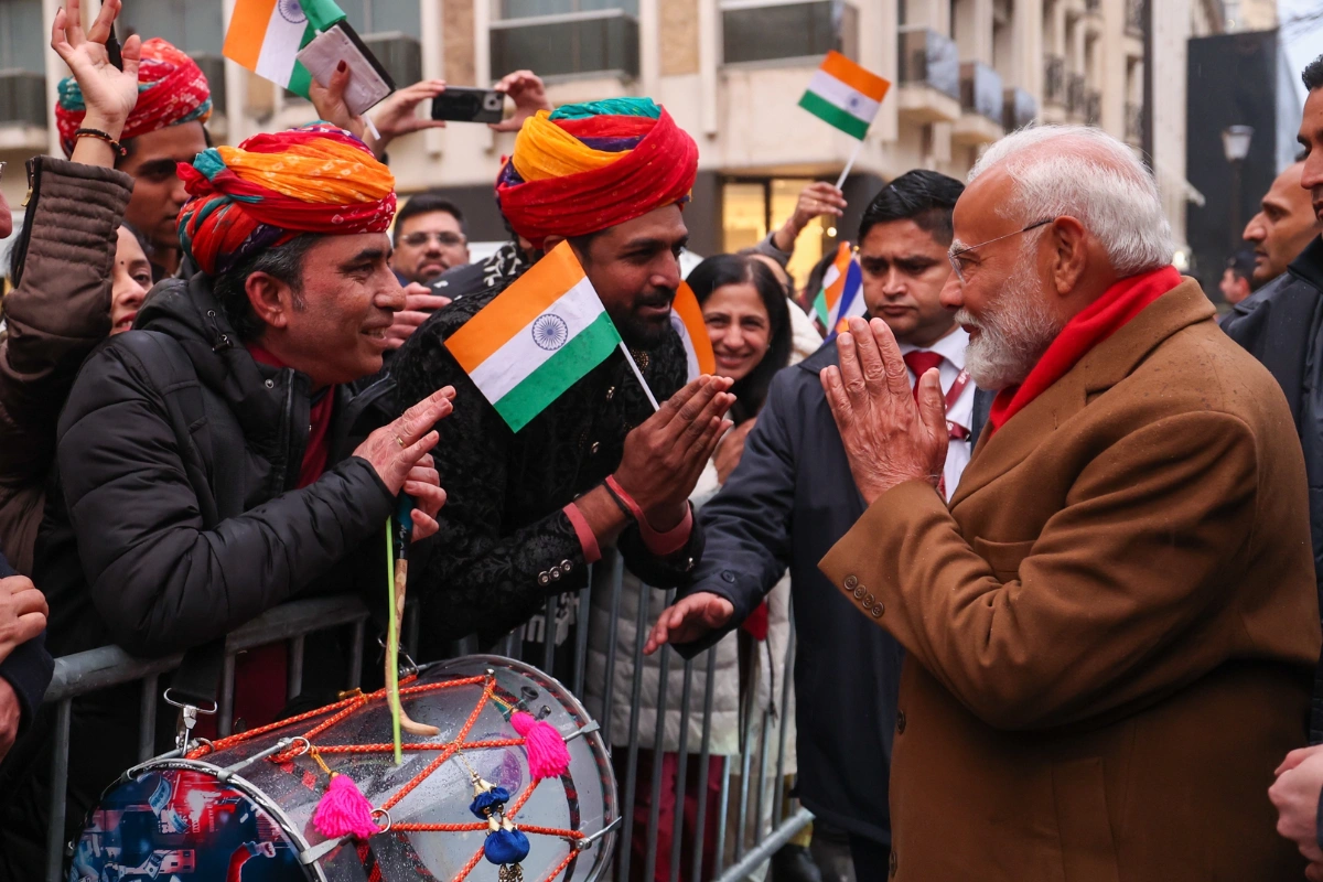
{"label": "man in dark suit and red tie with outstretched arm", "polygon": [[[968,335],[942,307],[951,272],[951,210],[963,190],[937,172],[902,175],[875,197],[859,230],[864,301],[888,323],[916,374],[938,368],[947,401],[955,491],[991,397],[964,373]],[[790,567],[799,637],[795,701],[799,797],[849,833],[855,878],[886,878],[886,779],[901,648],[859,615],[818,571],[818,561],[864,513],[818,380],[836,364],[823,346],[773,381],[740,465],[700,516],[706,551],[676,604],[662,614],[648,652],[685,655],[740,625]]]}

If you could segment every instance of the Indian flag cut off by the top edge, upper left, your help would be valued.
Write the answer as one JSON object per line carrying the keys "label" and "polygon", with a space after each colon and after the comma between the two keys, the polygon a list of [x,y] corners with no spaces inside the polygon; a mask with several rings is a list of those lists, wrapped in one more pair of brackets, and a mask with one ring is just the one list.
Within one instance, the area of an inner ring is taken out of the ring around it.
{"label": "Indian flag cut off by the top edge, upper left", "polygon": [[344,17],[333,0],[235,0],[222,54],[307,98],[312,74],[295,56]]}

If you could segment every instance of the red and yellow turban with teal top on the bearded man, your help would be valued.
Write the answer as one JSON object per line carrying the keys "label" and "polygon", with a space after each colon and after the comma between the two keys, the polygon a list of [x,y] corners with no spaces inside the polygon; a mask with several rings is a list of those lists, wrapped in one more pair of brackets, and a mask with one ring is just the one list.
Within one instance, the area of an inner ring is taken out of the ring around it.
{"label": "red and yellow turban with teal top on the bearded man", "polygon": [[501,214],[541,249],[689,198],[699,145],[648,98],[538,111],[496,180]]}

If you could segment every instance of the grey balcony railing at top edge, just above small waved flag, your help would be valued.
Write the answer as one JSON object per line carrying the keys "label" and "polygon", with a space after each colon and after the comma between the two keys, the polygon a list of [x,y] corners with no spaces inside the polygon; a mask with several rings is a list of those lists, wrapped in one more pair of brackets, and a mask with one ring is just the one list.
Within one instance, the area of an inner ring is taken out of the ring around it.
{"label": "grey balcony railing at top edge, just above small waved flag", "polygon": [[722,60],[728,65],[815,58],[831,49],[859,57],[859,9],[848,3],[741,3],[721,11],[721,32]]}

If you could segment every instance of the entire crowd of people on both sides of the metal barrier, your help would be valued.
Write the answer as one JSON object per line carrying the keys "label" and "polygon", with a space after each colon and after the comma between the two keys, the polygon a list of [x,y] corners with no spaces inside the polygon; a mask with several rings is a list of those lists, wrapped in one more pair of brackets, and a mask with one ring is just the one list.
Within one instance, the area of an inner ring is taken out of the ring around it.
{"label": "entire crowd of people on both sides of the metal barrier", "polygon": [[[439,124],[417,111],[443,82],[368,124],[341,67],[319,120],[216,145],[187,54],[132,36],[111,61],[120,7],[56,16],[66,156],[29,163],[3,304],[0,877],[46,863],[53,656],[187,665],[323,594],[385,621],[382,530],[407,497],[418,661],[512,631],[560,659],[587,620],[585,700],[663,782],[623,807],[634,879],[650,834],[654,878],[710,878],[741,714],[786,677],[795,795],[860,882],[1323,879],[1323,58],[1299,161],[1220,279],[1221,327],[1171,266],[1143,163],[1041,126],[964,182],[916,169],[872,194],[849,231],[865,317],[806,309],[835,255],[803,287],[786,271],[848,208],[830,184],[699,262],[716,370],[692,377],[671,305],[699,147],[664,107],[501,81],[511,239],[471,262],[460,208],[397,210],[388,164]],[[623,345],[513,431],[446,342],[537,317],[488,307],[562,243]],[[579,610],[609,547],[620,595],[594,584]],[[643,635],[655,588],[676,600]],[[340,640],[308,639],[299,696],[280,648],[241,656],[235,725],[332,700]],[[704,780],[668,644],[714,648],[714,693],[691,694]],[[638,677],[658,684],[642,722],[606,700]],[[70,838],[153,737],[136,686],[71,713]]]}

